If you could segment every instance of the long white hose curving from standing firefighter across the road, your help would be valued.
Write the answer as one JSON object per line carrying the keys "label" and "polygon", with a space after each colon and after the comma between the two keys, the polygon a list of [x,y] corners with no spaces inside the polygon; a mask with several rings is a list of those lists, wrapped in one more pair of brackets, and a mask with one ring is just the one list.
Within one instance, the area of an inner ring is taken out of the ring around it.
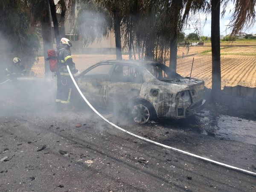
{"label": "long white hose curving from standing firefighter across the road", "polygon": [[234,166],[230,166],[230,165],[227,165],[227,164],[224,164],[224,163],[220,163],[220,162],[218,162],[218,161],[211,160],[211,159],[208,159],[208,158],[205,158],[205,157],[201,157],[201,156],[199,156],[199,155],[192,154],[192,153],[189,153],[189,152],[186,152],[186,151],[182,151],[182,150],[180,150],[180,149],[173,148],[173,147],[170,147],[170,146],[168,146],[168,145],[163,145],[163,144],[161,144],[161,143],[157,143],[157,142],[155,142],[155,141],[148,140],[148,139],[146,139],[146,138],[144,138],[144,137],[140,137],[140,136],[138,136],[138,135],[136,135],[136,134],[133,134],[133,133],[131,133],[131,132],[129,132],[129,131],[126,131],[125,129],[120,128],[119,126],[117,126],[117,125],[113,124],[112,122],[108,121],[108,119],[106,119],[106,118],[105,118],[104,116],[102,116],[95,108],[93,108],[93,106],[90,104],[90,102],[88,102],[88,100],[85,98],[84,94],[81,92],[80,88],[78,87],[78,85],[77,85],[77,83],[76,83],[76,81],[75,81],[75,79],[74,79],[74,77],[73,77],[73,75],[72,75],[72,73],[71,73],[70,68],[68,67],[68,65],[67,65],[67,70],[68,70],[68,73],[70,74],[70,77],[71,77],[73,83],[74,83],[75,86],[76,86],[76,89],[78,90],[78,92],[80,93],[80,95],[81,95],[81,97],[84,99],[84,101],[87,103],[87,105],[89,105],[89,107],[90,107],[98,116],[100,116],[105,122],[109,123],[110,125],[112,125],[113,127],[119,129],[120,131],[125,132],[125,133],[127,133],[127,134],[129,134],[129,135],[131,135],[131,136],[137,137],[137,138],[139,138],[139,139],[141,139],[141,140],[144,140],[144,141],[146,141],[146,142],[153,143],[153,144],[158,145],[158,146],[160,146],[160,147],[167,148],[167,149],[170,149],[170,150],[173,150],[173,151],[177,151],[177,152],[179,152],[179,153],[181,153],[181,154],[186,154],[186,155],[188,155],[188,156],[195,157],[195,158],[198,158],[198,159],[207,161],[207,162],[209,162],[209,163],[216,164],[216,165],[218,165],[218,166],[223,166],[223,167],[226,167],[226,168],[228,168],[228,169],[232,169],[232,170],[239,171],[239,172],[245,173],[245,174],[247,174],[247,175],[251,175],[251,176],[256,177],[256,173],[255,173],[255,172],[250,172],[250,171],[247,171],[247,170],[245,170],[245,169],[240,169],[240,168],[238,168],[238,167],[234,167]]}

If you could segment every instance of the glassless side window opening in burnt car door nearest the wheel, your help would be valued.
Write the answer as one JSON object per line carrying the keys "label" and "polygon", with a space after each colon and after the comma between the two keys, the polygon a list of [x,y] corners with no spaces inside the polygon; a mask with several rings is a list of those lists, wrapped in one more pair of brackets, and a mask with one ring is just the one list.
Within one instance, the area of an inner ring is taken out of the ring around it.
{"label": "glassless side window opening in burnt car door nearest the wheel", "polygon": [[114,82],[142,83],[140,71],[134,66],[116,65],[111,76]]}

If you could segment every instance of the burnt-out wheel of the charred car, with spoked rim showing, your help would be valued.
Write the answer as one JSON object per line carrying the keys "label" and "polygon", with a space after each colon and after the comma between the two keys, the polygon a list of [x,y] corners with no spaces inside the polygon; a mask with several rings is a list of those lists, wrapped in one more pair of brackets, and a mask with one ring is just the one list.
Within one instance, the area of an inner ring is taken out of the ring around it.
{"label": "burnt-out wheel of the charred car, with spoked rim showing", "polygon": [[137,102],[131,105],[130,114],[134,122],[145,124],[155,119],[155,110],[148,102]]}

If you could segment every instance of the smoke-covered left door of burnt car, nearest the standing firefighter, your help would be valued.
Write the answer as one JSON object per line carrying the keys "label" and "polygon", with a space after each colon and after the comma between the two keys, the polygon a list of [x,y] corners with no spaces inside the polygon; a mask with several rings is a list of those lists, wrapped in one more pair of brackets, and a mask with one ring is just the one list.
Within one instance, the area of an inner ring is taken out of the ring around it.
{"label": "smoke-covered left door of burnt car, nearest the standing firefighter", "polygon": [[113,64],[98,64],[79,75],[79,87],[91,104],[103,106],[103,87],[112,67]]}

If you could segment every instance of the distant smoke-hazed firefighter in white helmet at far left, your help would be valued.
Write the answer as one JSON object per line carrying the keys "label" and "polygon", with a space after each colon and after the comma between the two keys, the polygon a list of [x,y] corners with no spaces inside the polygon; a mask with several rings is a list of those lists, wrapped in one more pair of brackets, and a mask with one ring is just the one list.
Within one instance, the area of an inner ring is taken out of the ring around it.
{"label": "distant smoke-hazed firefighter in white helmet at far left", "polygon": [[21,64],[20,58],[13,58],[12,64],[6,68],[6,76],[12,81],[17,80],[17,77],[25,76],[26,69]]}

